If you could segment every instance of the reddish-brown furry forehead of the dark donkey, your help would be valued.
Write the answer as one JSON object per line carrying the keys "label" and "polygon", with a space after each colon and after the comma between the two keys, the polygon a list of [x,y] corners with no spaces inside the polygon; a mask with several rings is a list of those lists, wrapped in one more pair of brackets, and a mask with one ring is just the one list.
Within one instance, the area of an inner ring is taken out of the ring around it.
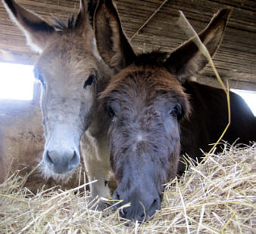
{"label": "reddish-brown furry forehead of the dark donkey", "polygon": [[[128,94],[155,97],[157,93],[175,91],[185,97],[182,85],[174,75],[164,67],[131,65],[117,73],[111,80],[108,88],[101,94],[102,98]],[[113,97],[111,97],[113,98]]]}

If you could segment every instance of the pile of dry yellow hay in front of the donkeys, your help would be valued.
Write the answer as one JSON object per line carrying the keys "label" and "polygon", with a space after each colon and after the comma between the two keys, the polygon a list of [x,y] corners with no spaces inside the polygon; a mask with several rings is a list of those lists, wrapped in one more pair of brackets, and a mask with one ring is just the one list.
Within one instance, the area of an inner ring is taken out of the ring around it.
{"label": "pile of dry yellow hay in front of the donkeys", "polygon": [[81,190],[32,195],[14,175],[0,185],[0,233],[255,233],[255,159],[255,144],[224,146],[167,186],[155,217],[130,226],[117,211],[88,208]]}

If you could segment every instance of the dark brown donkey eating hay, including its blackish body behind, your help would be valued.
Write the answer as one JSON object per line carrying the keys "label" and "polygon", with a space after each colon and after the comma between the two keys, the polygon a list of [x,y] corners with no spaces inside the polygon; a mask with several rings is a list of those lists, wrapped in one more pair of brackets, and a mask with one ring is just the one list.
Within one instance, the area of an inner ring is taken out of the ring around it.
{"label": "dark brown donkey eating hay, including its blackish body behind", "polygon": [[[230,9],[219,11],[199,37],[211,56],[220,45]],[[227,122],[226,95],[189,81],[206,66],[192,40],[172,54],[136,56],[121,27],[117,9],[101,0],[95,11],[95,38],[103,60],[115,74],[100,95],[111,120],[111,168],[117,180],[114,200],[120,216],[146,220],[161,208],[164,184],[178,172],[180,154],[192,159],[208,150]],[[255,118],[244,100],[230,93],[232,123],[224,139],[256,140]],[[180,166],[180,172],[184,168]]]}

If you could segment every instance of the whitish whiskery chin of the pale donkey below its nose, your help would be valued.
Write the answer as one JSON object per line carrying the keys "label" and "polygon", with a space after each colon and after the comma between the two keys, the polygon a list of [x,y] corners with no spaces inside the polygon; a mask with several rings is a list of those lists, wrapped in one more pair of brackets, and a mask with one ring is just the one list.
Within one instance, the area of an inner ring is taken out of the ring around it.
{"label": "whitish whiskery chin of the pale donkey below its nose", "polygon": [[45,163],[41,163],[39,166],[39,171],[41,173],[41,176],[45,179],[48,180],[52,178],[56,182],[60,183],[68,183],[70,179],[75,175],[78,174],[80,171],[80,165],[76,168],[72,168],[68,171],[60,171],[60,173],[55,172],[50,168],[48,165],[45,165]]}

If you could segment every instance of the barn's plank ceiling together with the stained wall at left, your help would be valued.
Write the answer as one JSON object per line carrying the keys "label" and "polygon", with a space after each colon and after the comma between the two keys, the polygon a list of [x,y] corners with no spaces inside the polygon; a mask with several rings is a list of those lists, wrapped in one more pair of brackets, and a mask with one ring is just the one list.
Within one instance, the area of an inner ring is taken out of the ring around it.
{"label": "barn's plank ceiling together with the stained wall at left", "polygon": [[[79,9],[79,0],[17,0],[24,8],[39,14],[48,23],[53,17],[67,21]],[[177,24],[183,11],[196,32],[208,25],[221,8],[232,7],[233,13],[223,42],[214,56],[220,77],[230,88],[256,91],[256,2],[254,0],[115,0],[123,29],[136,53],[146,51],[171,52],[188,36]],[[39,54],[31,51],[23,32],[8,17],[0,2],[0,62],[35,63]],[[195,78],[198,82],[220,87],[211,66]],[[30,102],[0,100],[0,155],[8,171],[31,165],[27,155],[33,155],[34,165],[42,157],[43,129],[39,108],[39,84],[35,85]],[[11,155],[11,158],[9,157]],[[19,159],[19,161],[17,161]],[[19,162],[19,165],[17,164]],[[0,169],[1,169],[0,165]]]}

